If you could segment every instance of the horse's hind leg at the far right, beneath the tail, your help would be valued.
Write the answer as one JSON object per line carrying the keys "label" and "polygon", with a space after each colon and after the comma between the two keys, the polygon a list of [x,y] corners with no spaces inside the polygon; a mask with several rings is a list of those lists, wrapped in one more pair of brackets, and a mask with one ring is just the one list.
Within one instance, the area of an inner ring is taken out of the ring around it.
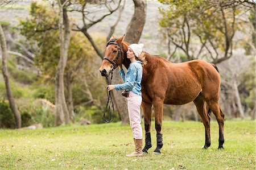
{"label": "horse's hind leg at the far right, beneath the tail", "polygon": [[222,113],[220,109],[220,105],[218,105],[217,101],[207,101],[207,104],[212,110],[213,114],[215,115],[217,121],[218,121],[218,127],[219,127],[219,138],[218,138],[218,149],[224,149],[224,114]]}

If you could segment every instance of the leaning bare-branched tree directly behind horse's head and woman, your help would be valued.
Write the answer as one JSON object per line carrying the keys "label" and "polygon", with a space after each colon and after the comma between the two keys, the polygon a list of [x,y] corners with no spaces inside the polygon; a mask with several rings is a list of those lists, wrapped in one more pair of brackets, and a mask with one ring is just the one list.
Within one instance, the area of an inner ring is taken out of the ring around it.
{"label": "leaning bare-branched tree directly behind horse's head and woman", "polygon": [[[103,55],[104,52],[102,52],[101,49],[97,47],[96,43],[88,33],[88,29],[92,27],[94,24],[101,22],[101,20],[103,20],[106,16],[111,15],[112,13],[117,11],[117,9],[120,8],[121,2],[122,1],[118,1],[118,4],[113,9],[112,7],[110,7],[111,5],[108,1],[101,1],[102,3],[101,5],[104,5],[107,7],[108,13],[102,16],[98,16],[98,19],[95,19],[95,20],[89,19],[88,9],[86,10],[86,5],[88,5],[88,3],[83,2],[81,4],[82,5],[81,9],[76,10],[82,13],[83,26],[80,26],[80,27],[76,26],[76,28],[73,28],[73,30],[81,31],[86,36],[86,38],[88,38],[94,50],[97,52],[97,55],[101,57],[101,59],[104,57]],[[131,19],[131,22],[127,28],[127,34],[125,36],[126,37],[125,40],[130,43],[138,43],[139,38],[141,37],[145,20],[146,20],[146,3],[143,0],[137,0],[137,1],[134,0],[133,2],[135,7],[134,16],[133,16],[133,19]],[[122,9],[123,8],[121,7],[121,10]],[[121,12],[119,11],[117,22],[113,24],[112,29],[110,30],[109,35],[107,36],[108,38],[113,34],[113,27],[117,25],[118,20],[120,19],[120,15],[121,15]],[[114,75],[113,75],[112,84],[121,84],[122,80],[117,75],[117,72],[114,71],[113,73]],[[129,117],[127,114],[128,110],[126,105],[126,99],[122,97],[120,93],[117,93],[117,92],[113,92],[113,99],[114,99],[114,106],[115,108],[117,108],[117,111],[121,117],[122,123],[128,123]]]}

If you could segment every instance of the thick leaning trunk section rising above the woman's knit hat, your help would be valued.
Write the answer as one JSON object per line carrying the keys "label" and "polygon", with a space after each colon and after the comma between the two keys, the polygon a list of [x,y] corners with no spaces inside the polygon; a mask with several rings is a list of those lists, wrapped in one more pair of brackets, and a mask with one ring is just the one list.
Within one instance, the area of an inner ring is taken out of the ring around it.
{"label": "thick leaning trunk section rising above the woman's knit hat", "polygon": [[146,2],[143,0],[133,0],[134,14],[127,27],[125,34],[125,42],[138,43],[141,38],[142,30],[146,22]]}

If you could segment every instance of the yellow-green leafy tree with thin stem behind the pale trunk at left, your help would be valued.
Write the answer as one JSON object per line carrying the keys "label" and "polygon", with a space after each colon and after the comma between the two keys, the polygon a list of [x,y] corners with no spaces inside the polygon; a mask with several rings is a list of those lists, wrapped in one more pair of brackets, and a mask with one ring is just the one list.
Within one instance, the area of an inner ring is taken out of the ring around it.
{"label": "yellow-green leafy tree with thin stem behind the pale trunk at left", "polygon": [[[47,22],[46,22],[47,21]],[[51,85],[54,81],[56,68],[60,56],[60,42],[59,42],[59,16],[57,13],[47,6],[40,3],[31,3],[30,17],[26,20],[20,20],[20,33],[26,36],[26,42],[29,44],[36,44],[37,53],[35,56],[35,64],[42,72],[39,81],[46,85]],[[72,23],[71,23],[72,24]],[[100,42],[97,40],[96,42]],[[67,89],[67,107],[69,111],[69,118],[73,119],[73,94],[72,86],[75,80],[79,81],[77,84],[84,84],[86,82],[86,72],[88,59],[95,56],[92,52],[92,46],[89,41],[82,37],[81,32],[71,32],[71,39],[68,48],[67,65],[64,71],[65,88]],[[89,99],[87,103],[101,106],[98,99],[93,98],[88,86],[84,84],[86,96],[77,98],[75,105],[81,105],[84,101]],[[82,89],[84,89],[84,86]],[[86,88],[87,87],[87,88]],[[81,96],[81,94],[80,94]],[[79,103],[82,102],[82,103]]]}

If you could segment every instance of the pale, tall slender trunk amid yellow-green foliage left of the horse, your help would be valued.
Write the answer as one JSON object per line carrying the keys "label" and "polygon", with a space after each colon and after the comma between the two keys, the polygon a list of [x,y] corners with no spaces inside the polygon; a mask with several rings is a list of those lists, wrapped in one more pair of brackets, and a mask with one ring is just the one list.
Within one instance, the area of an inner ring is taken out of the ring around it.
{"label": "pale, tall slender trunk amid yellow-green foliage left of the horse", "polygon": [[[70,28],[69,20],[67,15],[67,9],[61,1],[59,3],[60,20],[59,20],[59,31],[60,31],[60,60],[57,65],[57,71],[55,76],[55,125],[59,126],[63,124],[63,117],[65,123],[69,123],[68,107],[64,94],[64,70],[68,59],[68,46],[70,41]],[[64,27],[64,31],[63,31]]]}

